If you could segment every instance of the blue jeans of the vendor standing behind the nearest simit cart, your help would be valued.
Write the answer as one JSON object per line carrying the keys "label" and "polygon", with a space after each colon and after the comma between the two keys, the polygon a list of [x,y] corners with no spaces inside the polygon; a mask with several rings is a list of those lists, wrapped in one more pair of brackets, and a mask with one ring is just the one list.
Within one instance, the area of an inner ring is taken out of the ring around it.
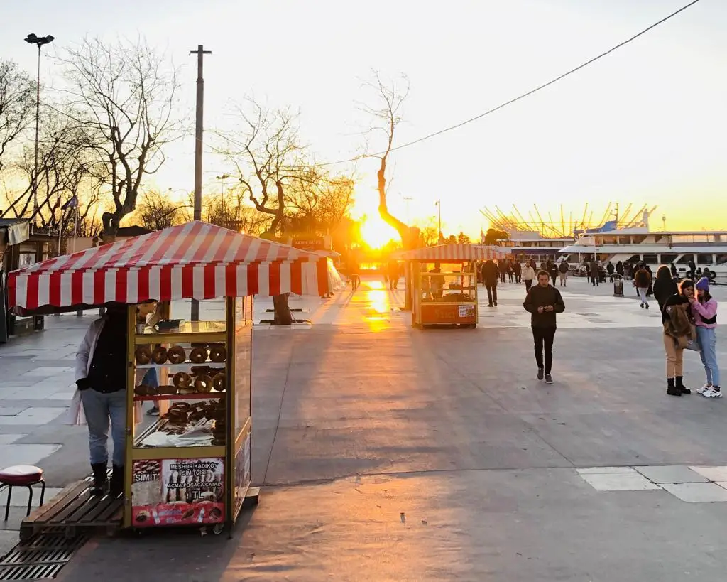
{"label": "blue jeans of the vendor standing behind the nearest simit cart", "polygon": [[103,394],[93,388],[81,391],[81,402],[89,427],[91,464],[108,463],[108,423],[111,419],[113,464],[124,466],[126,457],[126,390]]}

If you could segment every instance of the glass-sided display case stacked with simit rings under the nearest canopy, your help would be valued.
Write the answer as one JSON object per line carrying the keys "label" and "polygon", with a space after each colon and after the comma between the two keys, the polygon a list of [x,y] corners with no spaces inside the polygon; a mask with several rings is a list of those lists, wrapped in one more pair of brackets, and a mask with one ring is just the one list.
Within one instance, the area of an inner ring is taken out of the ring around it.
{"label": "glass-sided display case stacked with simit rings under the nearest canopy", "polygon": [[[252,297],[226,320],[139,323],[129,308],[124,525],[232,525],[251,481]],[[158,416],[142,413],[153,402]]]}

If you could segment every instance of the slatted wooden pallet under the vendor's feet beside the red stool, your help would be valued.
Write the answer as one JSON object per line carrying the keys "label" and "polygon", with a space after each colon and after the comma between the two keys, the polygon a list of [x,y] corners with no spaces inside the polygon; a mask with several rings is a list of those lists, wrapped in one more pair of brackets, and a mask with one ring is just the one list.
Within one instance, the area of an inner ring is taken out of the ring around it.
{"label": "slatted wooden pallet under the vendor's feet beside the red stool", "polygon": [[105,528],[107,533],[121,527],[124,517],[124,498],[111,495],[92,497],[89,487],[92,479],[87,477],[71,483],[53,501],[39,507],[20,524],[20,540],[43,531],[63,530],[69,538],[81,533],[79,530]]}

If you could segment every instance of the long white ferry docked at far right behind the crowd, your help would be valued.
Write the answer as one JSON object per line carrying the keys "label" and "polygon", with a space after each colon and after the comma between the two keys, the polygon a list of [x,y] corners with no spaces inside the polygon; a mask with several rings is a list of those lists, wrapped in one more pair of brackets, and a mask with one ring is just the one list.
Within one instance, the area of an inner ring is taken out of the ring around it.
{"label": "long white ferry docked at far right behind the crowd", "polygon": [[727,231],[656,231],[648,226],[584,233],[576,242],[563,247],[561,255],[571,264],[580,265],[595,255],[603,264],[616,265],[639,261],[651,266],[674,263],[680,276],[694,260],[696,268],[708,269],[715,282],[727,283]]}

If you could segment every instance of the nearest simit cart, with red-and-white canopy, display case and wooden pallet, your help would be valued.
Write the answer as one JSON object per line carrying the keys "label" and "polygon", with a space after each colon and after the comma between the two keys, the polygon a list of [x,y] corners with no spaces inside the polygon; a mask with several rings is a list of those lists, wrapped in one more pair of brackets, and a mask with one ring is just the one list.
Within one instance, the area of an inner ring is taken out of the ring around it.
{"label": "nearest simit cart, with red-and-white canopy, display case and wooden pallet", "polygon": [[[312,252],[202,222],[187,223],[15,271],[10,305],[25,314],[128,306],[123,498],[66,487],[23,522],[52,526],[232,527],[251,489],[253,295],[329,292],[332,263]],[[169,319],[201,300],[205,321]],[[138,323],[138,306],[158,302]],[[161,321],[156,321],[161,319]],[[147,380],[156,372],[158,387]],[[160,415],[142,415],[153,401]],[[254,495],[251,495],[254,493]]]}

